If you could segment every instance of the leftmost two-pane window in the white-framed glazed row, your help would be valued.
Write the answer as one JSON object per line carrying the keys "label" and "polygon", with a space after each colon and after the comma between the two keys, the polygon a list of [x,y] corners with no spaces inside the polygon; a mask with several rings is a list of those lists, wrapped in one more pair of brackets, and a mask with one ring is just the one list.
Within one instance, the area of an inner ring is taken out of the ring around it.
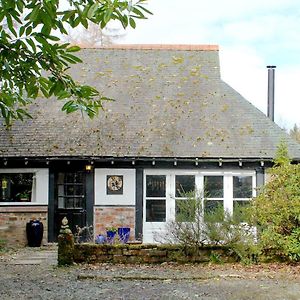
{"label": "leftmost two-pane window in the white-framed glazed row", "polygon": [[166,221],[166,176],[146,176],[146,222]]}

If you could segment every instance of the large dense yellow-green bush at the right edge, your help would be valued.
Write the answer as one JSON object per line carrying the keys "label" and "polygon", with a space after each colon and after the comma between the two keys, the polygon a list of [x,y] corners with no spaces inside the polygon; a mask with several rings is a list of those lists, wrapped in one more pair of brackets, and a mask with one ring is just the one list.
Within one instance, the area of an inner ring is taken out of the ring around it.
{"label": "large dense yellow-green bush at the right edge", "polygon": [[270,181],[253,203],[265,255],[300,261],[300,164],[292,164],[281,143]]}

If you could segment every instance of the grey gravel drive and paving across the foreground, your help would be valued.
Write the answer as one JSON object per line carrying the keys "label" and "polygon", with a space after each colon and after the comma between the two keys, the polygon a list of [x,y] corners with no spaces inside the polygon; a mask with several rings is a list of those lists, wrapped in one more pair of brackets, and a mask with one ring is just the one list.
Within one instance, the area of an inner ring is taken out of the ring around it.
{"label": "grey gravel drive and paving across the foreground", "polygon": [[0,256],[0,299],[300,299],[300,265],[56,266],[56,249]]}

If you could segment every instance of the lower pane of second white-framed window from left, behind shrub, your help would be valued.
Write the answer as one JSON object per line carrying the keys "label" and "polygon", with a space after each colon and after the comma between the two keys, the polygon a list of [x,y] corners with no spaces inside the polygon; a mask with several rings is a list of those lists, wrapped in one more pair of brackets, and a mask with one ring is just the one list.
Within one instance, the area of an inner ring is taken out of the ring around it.
{"label": "lower pane of second white-framed window from left, behind shrub", "polygon": [[175,200],[176,222],[194,222],[196,215],[196,200]]}

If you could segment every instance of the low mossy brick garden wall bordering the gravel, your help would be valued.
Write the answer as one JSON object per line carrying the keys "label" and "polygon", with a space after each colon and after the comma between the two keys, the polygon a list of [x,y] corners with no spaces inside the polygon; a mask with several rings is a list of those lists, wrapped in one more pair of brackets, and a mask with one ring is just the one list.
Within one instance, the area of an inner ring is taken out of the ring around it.
{"label": "low mossy brick garden wall bordering the gravel", "polygon": [[75,244],[74,262],[76,263],[163,263],[163,262],[209,262],[211,256],[218,256],[223,262],[233,261],[222,246],[204,246],[199,255],[193,256],[178,245],[95,245]]}

